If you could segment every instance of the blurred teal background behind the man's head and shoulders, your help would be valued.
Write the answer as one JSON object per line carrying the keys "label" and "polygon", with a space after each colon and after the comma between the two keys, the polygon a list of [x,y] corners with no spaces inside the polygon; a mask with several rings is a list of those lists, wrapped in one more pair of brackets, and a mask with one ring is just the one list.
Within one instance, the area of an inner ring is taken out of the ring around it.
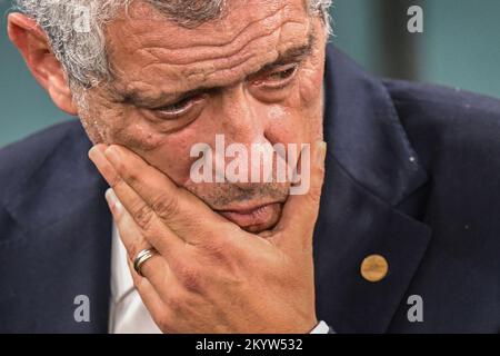
{"label": "blurred teal background behind the man's head and shoulders", "polygon": [[[423,33],[409,33],[407,10],[423,10]],[[9,42],[10,0],[0,0],[0,147],[68,119]],[[376,76],[500,97],[500,0],[333,0],[339,48]]]}

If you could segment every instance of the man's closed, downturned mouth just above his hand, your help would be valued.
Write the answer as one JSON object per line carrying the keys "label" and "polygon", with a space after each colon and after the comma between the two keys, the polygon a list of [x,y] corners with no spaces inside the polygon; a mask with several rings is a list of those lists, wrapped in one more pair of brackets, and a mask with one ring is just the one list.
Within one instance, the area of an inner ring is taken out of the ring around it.
{"label": "man's closed, downturned mouth just above his hand", "polygon": [[242,206],[228,210],[218,210],[217,212],[246,230],[256,231],[268,229],[276,225],[281,214],[281,204],[270,202],[253,207]]}

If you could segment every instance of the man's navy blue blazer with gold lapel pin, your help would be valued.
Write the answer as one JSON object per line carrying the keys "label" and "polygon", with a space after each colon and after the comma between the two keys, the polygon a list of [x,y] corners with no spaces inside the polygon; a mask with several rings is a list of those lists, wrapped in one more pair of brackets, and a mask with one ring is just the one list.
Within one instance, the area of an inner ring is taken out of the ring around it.
{"label": "man's navy blue blazer with gold lapel pin", "polygon": [[[318,317],[337,333],[499,333],[500,101],[374,79],[331,47],[326,97]],[[107,332],[111,217],[90,147],[74,120],[0,151],[0,332]],[[360,274],[371,254],[389,264],[378,283]]]}

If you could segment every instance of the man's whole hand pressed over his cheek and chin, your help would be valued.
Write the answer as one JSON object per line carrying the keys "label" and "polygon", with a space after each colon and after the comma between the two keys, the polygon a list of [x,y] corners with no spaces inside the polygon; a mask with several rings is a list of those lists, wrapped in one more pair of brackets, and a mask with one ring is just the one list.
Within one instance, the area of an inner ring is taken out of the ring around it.
{"label": "man's whole hand pressed over his cheek and chin", "polygon": [[[317,324],[312,234],[324,175],[312,145],[310,189],[290,196],[278,225],[242,230],[122,146],[89,157],[112,189],[107,199],[139,294],[164,333],[308,333]],[[139,276],[132,260],[157,254]]]}

